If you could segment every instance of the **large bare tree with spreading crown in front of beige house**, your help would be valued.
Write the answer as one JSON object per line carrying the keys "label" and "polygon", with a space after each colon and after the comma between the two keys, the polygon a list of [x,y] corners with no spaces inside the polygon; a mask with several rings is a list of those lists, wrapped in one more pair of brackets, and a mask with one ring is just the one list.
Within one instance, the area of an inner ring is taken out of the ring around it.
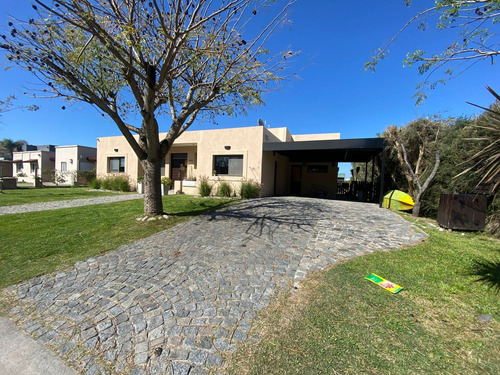
{"label": "large bare tree with spreading crown in front of beige house", "polygon": [[160,164],[174,140],[198,116],[262,104],[268,85],[285,78],[293,52],[270,54],[265,44],[295,0],[271,13],[274,2],[35,0],[37,16],[10,22],[1,47],[47,96],[90,103],[114,121],[144,169],[144,212],[157,215]]}

